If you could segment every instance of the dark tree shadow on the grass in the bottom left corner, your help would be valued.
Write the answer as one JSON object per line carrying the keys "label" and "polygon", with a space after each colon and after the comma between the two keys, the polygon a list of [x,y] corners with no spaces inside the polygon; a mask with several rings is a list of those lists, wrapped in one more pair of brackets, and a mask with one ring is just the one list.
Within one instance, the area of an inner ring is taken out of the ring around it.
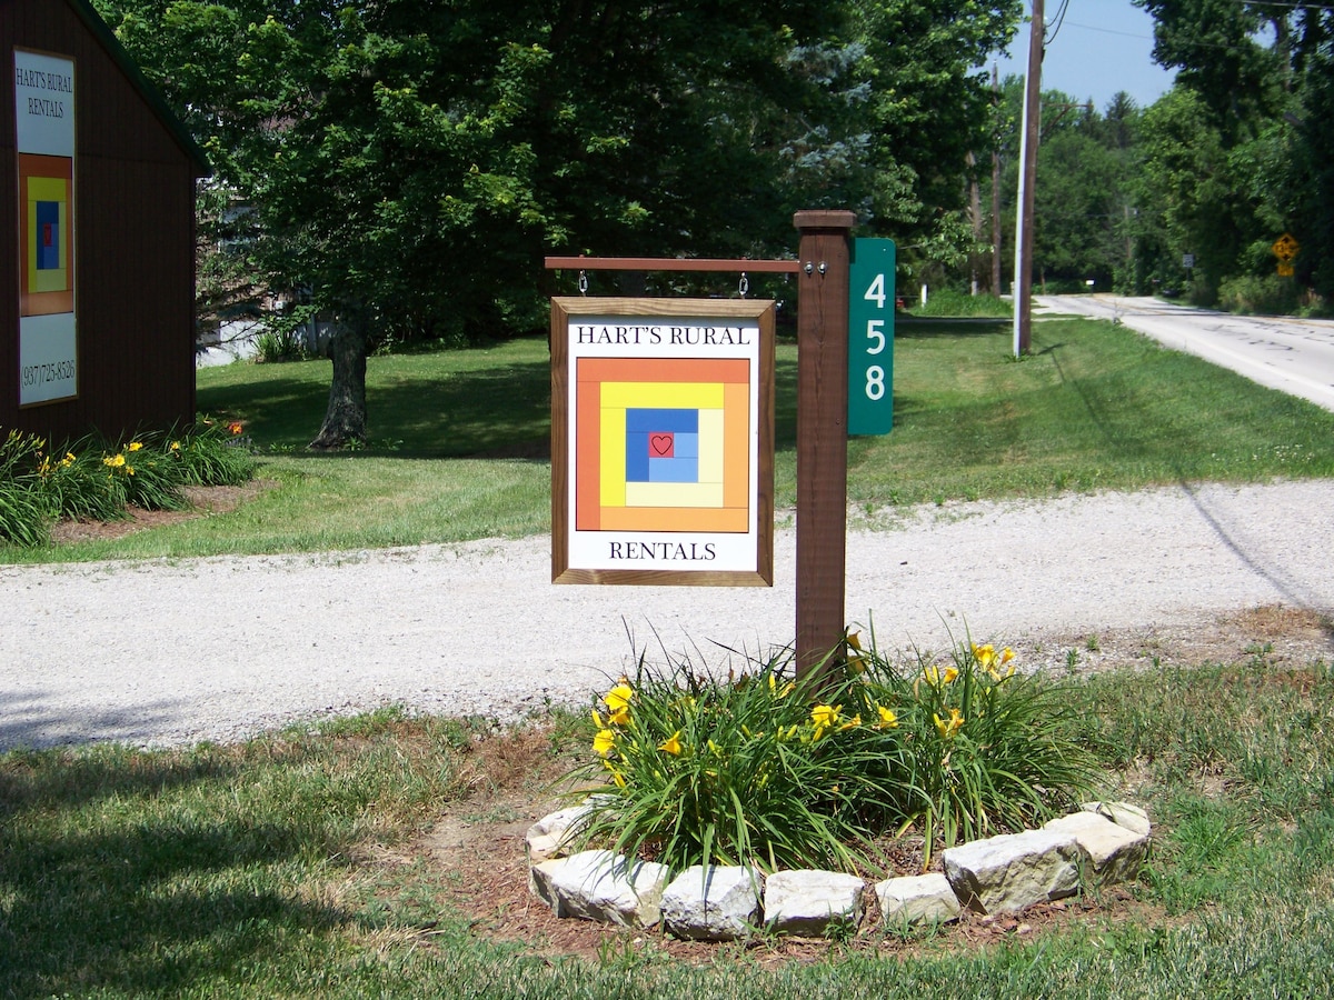
{"label": "dark tree shadow on the grass in the bottom left corner", "polygon": [[235,772],[209,753],[0,757],[0,995],[208,992],[344,924],[296,876],[272,888],[336,853],[320,828],[204,804]]}

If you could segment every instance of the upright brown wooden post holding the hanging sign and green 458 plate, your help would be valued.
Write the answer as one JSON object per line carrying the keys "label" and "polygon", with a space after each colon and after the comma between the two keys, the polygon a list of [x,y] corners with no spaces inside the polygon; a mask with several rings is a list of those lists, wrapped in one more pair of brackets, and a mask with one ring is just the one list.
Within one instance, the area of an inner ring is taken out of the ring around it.
{"label": "upright brown wooden post holding the hanging sign and green 458 plate", "polygon": [[847,308],[852,212],[798,212],[796,672],[840,651],[847,572]]}

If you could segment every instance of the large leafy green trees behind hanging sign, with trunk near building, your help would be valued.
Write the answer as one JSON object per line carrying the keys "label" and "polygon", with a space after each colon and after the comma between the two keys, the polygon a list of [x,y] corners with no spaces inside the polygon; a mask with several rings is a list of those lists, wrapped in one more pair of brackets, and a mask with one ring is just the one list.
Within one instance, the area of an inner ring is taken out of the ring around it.
{"label": "large leafy green trees behind hanging sign, with trunk near building", "polygon": [[[798,208],[948,231],[970,67],[1015,0],[96,0],[249,207],[252,272],[336,317],[319,447],[376,340],[540,328],[542,257],[763,256]],[[980,100],[980,104],[979,104]]]}

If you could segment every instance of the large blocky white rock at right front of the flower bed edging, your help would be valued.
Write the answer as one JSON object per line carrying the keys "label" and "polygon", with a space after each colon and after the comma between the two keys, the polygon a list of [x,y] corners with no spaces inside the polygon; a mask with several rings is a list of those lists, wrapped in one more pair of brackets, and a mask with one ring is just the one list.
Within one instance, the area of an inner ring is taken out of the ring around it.
{"label": "large blocky white rock at right front of the flower bed edging", "polygon": [[1074,836],[1053,829],[1002,833],[942,853],[954,895],[982,913],[1014,913],[1074,895],[1079,859]]}

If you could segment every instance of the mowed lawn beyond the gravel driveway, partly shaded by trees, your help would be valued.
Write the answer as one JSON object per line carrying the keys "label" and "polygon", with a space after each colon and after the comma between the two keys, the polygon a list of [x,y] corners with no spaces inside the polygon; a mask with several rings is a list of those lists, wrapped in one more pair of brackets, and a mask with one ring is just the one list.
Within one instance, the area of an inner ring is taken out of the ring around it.
{"label": "mowed lawn beyond the gravel driveway, partly shaded by trees", "polygon": [[[854,508],[1334,475],[1334,413],[1095,320],[898,324],[895,428],[848,441]],[[239,509],[117,540],[0,548],[3,561],[299,552],[550,529],[546,339],[372,357],[364,449],[315,455],[331,365],[199,372],[199,408],[240,420],[269,488]],[[796,347],[778,351],[775,481],[796,493]]]}

